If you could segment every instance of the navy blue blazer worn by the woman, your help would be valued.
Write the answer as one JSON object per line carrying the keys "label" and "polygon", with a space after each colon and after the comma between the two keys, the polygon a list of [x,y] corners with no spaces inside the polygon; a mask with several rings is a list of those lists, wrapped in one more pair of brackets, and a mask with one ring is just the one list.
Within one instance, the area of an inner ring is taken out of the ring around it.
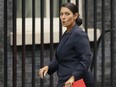
{"label": "navy blue blazer worn by the woman", "polygon": [[88,71],[91,64],[91,49],[87,34],[75,25],[64,33],[50,62],[48,74],[57,71],[58,76],[73,75],[75,80]]}

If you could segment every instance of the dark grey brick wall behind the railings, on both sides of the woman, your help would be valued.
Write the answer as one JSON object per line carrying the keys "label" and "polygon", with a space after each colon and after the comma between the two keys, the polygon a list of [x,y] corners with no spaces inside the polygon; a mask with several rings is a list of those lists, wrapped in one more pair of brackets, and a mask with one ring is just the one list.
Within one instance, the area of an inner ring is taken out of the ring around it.
{"label": "dark grey brick wall behind the railings, on both sides of the woman", "polygon": [[[88,25],[89,27],[93,27],[93,0],[88,0],[89,1],[89,13],[88,13]],[[116,3],[116,0],[114,0],[115,3]],[[106,29],[110,29],[110,0],[106,0],[106,23],[105,23],[105,27]],[[4,6],[4,0],[0,0],[0,87],[3,87],[3,64],[4,64],[4,48],[3,48],[3,37],[4,37],[4,28],[3,28],[3,7]],[[97,8],[97,26],[99,29],[102,29],[101,26],[101,0],[98,0],[98,8]],[[115,5],[115,8],[116,8],[116,5]],[[116,9],[115,9],[115,15],[116,15]],[[91,18],[92,17],[92,18]],[[115,21],[116,21],[116,17],[115,17]],[[116,28],[115,28],[116,29]],[[12,47],[9,46],[9,33],[12,31],[12,0],[8,0],[8,87],[12,87]],[[115,33],[116,33],[116,30],[115,30]],[[108,64],[108,68],[106,70],[106,80],[108,80],[109,78],[109,66],[110,66],[110,33],[107,33],[106,35],[106,44],[105,44],[105,47],[106,47],[106,50],[105,50],[105,53],[106,53],[106,63]],[[115,34],[115,44],[116,44],[116,34]],[[55,46],[56,47],[56,46]],[[54,47],[54,48],[55,48]],[[116,57],[116,46],[115,46],[115,57]],[[17,68],[18,68],[18,71],[17,71],[17,80],[18,80],[18,87],[21,87],[21,64],[22,64],[22,59],[21,59],[21,47],[18,47],[18,55],[17,55],[17,61],[18,61],[18,64],[17,64]],[[30,46],[27,46],[26,47],[26,86],[27,87],[31,87],[31,47]],[[40,67],[40,46],[36,46],[36,53],[35,53],[35,56],[36,56],[36,73],[38,71],[38,68]],[[49,45],[46,45],[45,46],[45,53],[44,53],[44,56],[45,56],[45,64],[49,61]],[[106,64],[106,65],[107,65]],[[100,77],[101,77],[101,48],[99,47],[99,50],[98,50],[98,80],[101,80]],[[48,85],[49,83],[49,80],[48,80],[49,77],[47,77],[47,79],[45,80],[45,85]],[[55,79],[57,80],[57,79]],[[39,83],[39,77],[37,77],[37,74],[36,74],[36,83]],[[57,82],[56,82],[57,83]],[[56,84],[55,83],[55,84]],[[36,84],[38,87],[39,87],[39,84]],[[110,87],[110,86],[109,86]]]}

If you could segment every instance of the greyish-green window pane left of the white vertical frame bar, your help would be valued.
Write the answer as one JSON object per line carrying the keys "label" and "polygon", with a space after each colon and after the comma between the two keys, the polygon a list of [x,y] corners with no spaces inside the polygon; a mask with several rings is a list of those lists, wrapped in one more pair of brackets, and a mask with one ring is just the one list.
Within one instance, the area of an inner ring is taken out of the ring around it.
{"label": "greyish-green window pane left of the white vertical frame bar", "polygon": [[[46,0],[44,0],[46,3]],[[46,16],[46,5],[44,4],[44,16]],[[32,17],[32,0],[25,0],[25,16]],[[35,0],[35,16],[40,17],[40,0]],[[22,17],[22,0],[17,0],[17,17]]]}

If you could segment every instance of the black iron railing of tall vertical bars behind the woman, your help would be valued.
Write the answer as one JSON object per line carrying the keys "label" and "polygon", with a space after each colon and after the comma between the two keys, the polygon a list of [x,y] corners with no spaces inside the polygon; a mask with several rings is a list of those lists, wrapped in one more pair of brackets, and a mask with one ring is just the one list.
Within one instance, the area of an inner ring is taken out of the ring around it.
{"label": "black iron railing of tall vertical bars behind the woman", "polygon": [[[7,7],[7,0],[4,0],[4,87],[8,87],[7,83],[8,83],[8,23],[7,23],[7,16],[8,16],[8,7]],[[45,44],[44,44],[44,29],[45,29],[45,26],[44,26],[44,6],[45,6],[45,0],[40,0],[40,67],[43,67],[44,66],[44,53],[45,53]],[[49,60],[52,60],[53,56],[54,56],[54,37],[53,37],[53,34],[54,34],[54,29],[53,29],[53,2],[54,0],[50,0],[50,10],[49,10],[49,14],[50,14],[50,56],[49,56]],[[66,2],[71,2],[71,0],[66,0]],[[85,32],[88,33],[88,0],[83,0],[84,4],[82,4],[82,7],[83,7],[83,10],[84,10],[84,14],[83,14],[83,19],[84,19],[84,27],[85,27]],[[40,84],[40,87],[44,87],[44,80],[40,80],[40,83],[36,81],[36,56],[35,56],[35,46],[36,46],[36,43],[35,43],[35,19],[36,19],[36,11],[35,11],[35,3],[36,1],[35,0],[32,0],[32,82],[31,82],[31,86],[32,87],[36,87],[36,84]],[[79,7],[79,0],[75,0],[75,3],[77,4],[77,6]],[[105,43],[107,43],[105,41],[105,37],[106,37],[106,33],[107,32],[110,32],[110,41],[111,41],[111,45],[110,45],[110,49],[111,50],[111,86],[110,87],[114,87],[115,85],[115,59],[114,59],[114,23],[115,23],[115,20],[114,20],[114,0],[110,0],[110,16],[111,16],[111,30],[106,30],[105,28],[105,0],[102,0],[102,29],[101,29],[101,36],[100,38],[97,40],[97,0],[94,0],[93,1],[93,20],[94,20],[94,26],[93,26],[93,29],[94,29],[94,41],[92,42],[93,44],[93,63],[92,63],[92,71],[94,72],[94,78],[95,78],[95,87],[98,87],[98,83],[97,83],[97,64],[98,64],[98,61],[97,61],[97,53],[98,53],[98,46],[100,44],[100,42],[102,43],[102,46],[101,46],[101,53],[102,53],[102,81],[101,81],[101,84],[102,86],[101,87],[105,87]],[[59,4],[59,8],[61,7],[61,4],[62,4],[62,0],[58,0],[58,3]],[[26,1],[25,0],[22,0],[22,87],[25,87],[25,84],[26,84],[26,70],[25,70],[25,67],[26,67],[26,29],[25,29],[25,12],[26,12]],[[17,0],[13,0],[13,65],[12,65],[12,86],[13,87],[18,87],[17,85]],[[61,25],[61,22],[60,22],[60,18],[59,18],[59,40],[61,39],[61,36],[62,36],[62,25]],[[39,38],[39,37],[38,37]],[[49,61],[48,61],[49,62]],[[50,83],[49,83],[49,86],[50,87],[53,87],[54,85],[54,77],[53,75],[50,76]]]}

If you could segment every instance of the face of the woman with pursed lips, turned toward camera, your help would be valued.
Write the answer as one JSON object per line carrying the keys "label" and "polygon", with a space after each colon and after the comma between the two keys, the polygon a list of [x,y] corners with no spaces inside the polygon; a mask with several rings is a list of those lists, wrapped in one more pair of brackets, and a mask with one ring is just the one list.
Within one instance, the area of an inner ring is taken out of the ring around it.
{"label": "face of the woman with pursed lips, turned toward camera", "polygon": [[60,10],[60,19],[61,19],[62,25],[64,27],[67,27],[67,29],[70,29],[74,26],[77,16],[78,16],[77,13],[73,14],[66,7],[62,7]]}

